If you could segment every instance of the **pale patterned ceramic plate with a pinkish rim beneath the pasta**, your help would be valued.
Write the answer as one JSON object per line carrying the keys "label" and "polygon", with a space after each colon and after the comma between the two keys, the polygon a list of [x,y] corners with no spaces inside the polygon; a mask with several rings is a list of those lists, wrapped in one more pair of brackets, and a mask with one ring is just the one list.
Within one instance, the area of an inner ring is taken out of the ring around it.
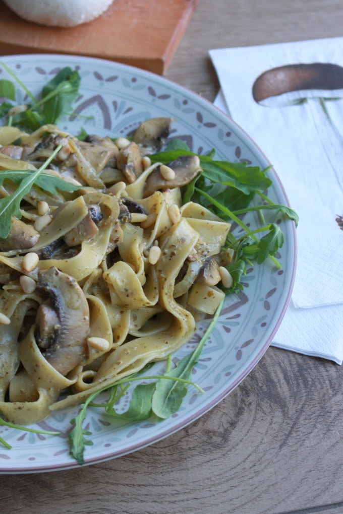
{"label": "pale patterned ceramic plate with a pinkish rim beneath the pasta", "polygon": [[[205,153],[212,148],[216,158],[247,160],[262,169],[269,166],[256,144],[236,123],[206,100],[164,78],[117,63],[74,56],[26,55],[0,59],[6,63],[33,94],[64,67],[78,69],[80,97],[75,112],[92,119],[69,117],[61,128],[77,135],[81,126],[88,133],[124,136],[148,118],[175,119],[172,136],[183,138],[191,150]],[[9,78],[0,65],[0,78]],[[17,87],[17,99],[24,100]],[[273,170],[273,186],[268,195],[278,204],[287,204],[282,185]],[[246,221],[247,218],[245,218]],[[251,224],[255,218],[251,218]],[[271,263],[249,270],[246,287],[238,297],[226,299],[225,307],[208,340],[194,374],[204,393],[189,388],[182,408],[171,418],[155,423],[114,424],[100,409],[88,411],[85,427],[93,433],[93,446],[87,446],[85,464],[104,461],[156,442],[200,417],[232,391],[262,357],[277,331],[291,296],[295,274],[296,240],[293,222],[278,216],[285,242],[280,251],[282,269]],[[192,340],[176,357],[191,351],[206,324],[198,326]],[[122,409],[125,409],[123,401]],[[77,409],[54,413],[39,423],[44,430],[57,430],[60,436],[33,434],[0,426],[0,436],[12,446],[0,447],[0,472],[22,473],[73,468],[67,434],[69,420]],[[37,428],[37,427],[36,427]]]}

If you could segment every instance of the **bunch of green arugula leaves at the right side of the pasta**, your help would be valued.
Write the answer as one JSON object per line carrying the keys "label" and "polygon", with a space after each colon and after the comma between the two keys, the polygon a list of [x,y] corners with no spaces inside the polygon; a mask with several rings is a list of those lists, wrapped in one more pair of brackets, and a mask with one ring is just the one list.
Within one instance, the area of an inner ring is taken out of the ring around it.
{"label": "bunch of green arugula leaves at the right side of the pasta", "polygon": [[[150,156],[152,162],[168,164],[182,155],[195,155],[190,152],[186,143],[174,139],[164,152]],[[257,212],[263,223],[263,211],[281,212],[298,224],[298,215],[290,207],[274,204],[264,191],[272,185],[272,180],[266,176],[269,167],[261,170],[257,166],[247,166],[245,162],[229,162],[214,160],[214,150],[207,155],[198,155],[203,170],[183,191],[183,203],[194,201],[204,205],[224,221],[236,223],[244,234],[235,237],[229,232],[226,248],[234,250],[233,262],[226,267],[233,279],[226,294],[243,289],[241,280],[246,273],[247,265],[254,261],[262,264],[271,259],[275,266],[280,267],[275,255],[283,245],[283,233],[275,223],[262,224],[258,229],[250,229],[243,221],[242,215],[247,212]],[[263,205],[252,205],[255,198],[261,198]],[[257,234],[263,234],[258,238]]]}

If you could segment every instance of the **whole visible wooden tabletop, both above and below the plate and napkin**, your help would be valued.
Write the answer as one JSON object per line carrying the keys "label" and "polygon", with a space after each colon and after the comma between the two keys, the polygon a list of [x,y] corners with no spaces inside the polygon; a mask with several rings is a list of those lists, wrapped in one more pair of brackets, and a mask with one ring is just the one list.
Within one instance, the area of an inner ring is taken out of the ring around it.
{"label": "whole visible wooden tabletop, both above and below the plate and napkin", "polygon": [[[210,48],[342,35],[341,0],[200,0],[167,77],[213,100]],[[270,347],[218,406],[136,453],[3,475],[4,514],[343,512],[343,368]]]}

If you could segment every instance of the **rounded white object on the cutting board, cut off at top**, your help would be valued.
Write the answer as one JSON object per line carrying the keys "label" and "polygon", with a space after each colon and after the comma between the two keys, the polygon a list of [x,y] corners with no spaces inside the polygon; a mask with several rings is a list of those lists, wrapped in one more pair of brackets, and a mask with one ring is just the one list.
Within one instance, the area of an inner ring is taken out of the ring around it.
{"label": "rounded white object on the cutting board, cut off at top", "polygon": [[110,7],[113,0],[4,0],[24,20],[40,25],[74,27],[91,22]]}

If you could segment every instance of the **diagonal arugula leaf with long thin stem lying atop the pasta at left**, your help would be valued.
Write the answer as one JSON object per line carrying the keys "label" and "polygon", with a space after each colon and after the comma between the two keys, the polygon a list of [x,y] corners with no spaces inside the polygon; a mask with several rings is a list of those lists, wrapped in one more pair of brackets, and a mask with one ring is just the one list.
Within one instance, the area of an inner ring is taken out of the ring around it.
{"label": "diagonal arugula leaf with long thin stem lying atop the pasta at left", "polygon": [[6,196],[5,198],[0,198],[0,218],[2,222],[0,226],[0,237],[6,238],[8,236],[12,226],[12,216],[16,216],[19,219],[22,217],[22,213],[20,211],[20,203],[23,197],[30,191],[39,175],[50,164],[52,159],[61,150],[61,148],[62,145],[57,146],[50,157],[44,162],[44,164],[42,164],[38,170],[32,172],[29,176],[20,182],[20,186],[14,191],[14,193]]}

